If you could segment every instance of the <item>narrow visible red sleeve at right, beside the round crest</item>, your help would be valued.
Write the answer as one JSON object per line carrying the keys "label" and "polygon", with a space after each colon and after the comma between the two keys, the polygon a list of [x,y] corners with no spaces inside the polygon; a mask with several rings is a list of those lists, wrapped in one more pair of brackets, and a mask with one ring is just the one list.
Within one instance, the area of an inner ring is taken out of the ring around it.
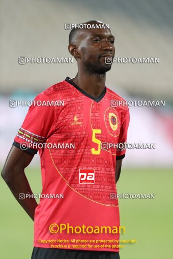
{"label": "narrow visible red sleeve at right, beside the round crest", "polygon": [[129,114],[129,108],[127,107],[127,113],[124,117],[124,120],[122,121],[122,125],[120,128],[116,160],[120,160],[125,157],[125,153],[126,153],[125,144],[127,142],[127,131],[129,127],[129,121],[130,121],[130,114]]}

